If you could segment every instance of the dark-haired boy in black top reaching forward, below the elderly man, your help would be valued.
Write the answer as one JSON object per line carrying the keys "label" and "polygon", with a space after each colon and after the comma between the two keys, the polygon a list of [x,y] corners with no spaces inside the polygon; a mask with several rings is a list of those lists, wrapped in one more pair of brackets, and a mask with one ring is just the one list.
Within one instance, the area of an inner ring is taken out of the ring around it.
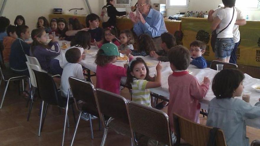
{"label": "dark-haired boy in black top reaching forward, below the elderly man", "polygon": [[159,51],[151,51],[150,52],[150,56],[163,61],[163,62],[168,62],[168,52],[170,51],[170,49],[172,47],[176,46],[176,39],[175,37],[170,34],[169,32],[165,32],[161,35],[161,39],[162,39],[162,43],[161,43],[161,47],[162,49]]}

